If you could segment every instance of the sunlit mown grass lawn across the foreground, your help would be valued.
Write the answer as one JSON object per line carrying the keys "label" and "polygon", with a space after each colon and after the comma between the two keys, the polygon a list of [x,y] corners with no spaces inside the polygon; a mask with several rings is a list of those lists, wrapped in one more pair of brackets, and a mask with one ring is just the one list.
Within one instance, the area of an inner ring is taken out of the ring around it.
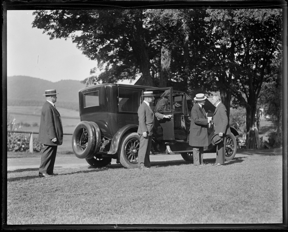
{"label": "sunlit mown grass lawn across the foreground", "polygon": [[282,153],[152,165],[8,171],[7,224],[282,223]]}

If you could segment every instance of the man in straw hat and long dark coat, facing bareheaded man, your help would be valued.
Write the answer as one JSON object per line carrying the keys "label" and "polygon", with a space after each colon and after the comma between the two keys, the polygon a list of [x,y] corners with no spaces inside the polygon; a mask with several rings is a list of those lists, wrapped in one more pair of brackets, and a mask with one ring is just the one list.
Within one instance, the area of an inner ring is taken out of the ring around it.
{"label": "man in straw hat and long dark coat, facing bareheaded man", "polygon": [[197,103],[191,109],[189,145],[193,146],[193,164],[196,166],[204,165],[204,146],[208,146],[207,130],[210,120],[203,108],[206,98],[203,93],[196,94],[194,100]]}

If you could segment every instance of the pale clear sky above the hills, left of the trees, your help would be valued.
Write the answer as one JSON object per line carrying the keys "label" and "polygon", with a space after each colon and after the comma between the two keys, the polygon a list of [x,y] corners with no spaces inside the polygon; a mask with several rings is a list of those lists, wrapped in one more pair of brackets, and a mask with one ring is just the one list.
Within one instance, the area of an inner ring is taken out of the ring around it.
{"label": "pale clear sky above the hills, left of the trees", "polygon": [[32,28],[32,13],[33,10],[7,11],[7,76],[29,76],[52,82],[81,81],[89,77],[97,61],[83,55],[71,39],[50,40],[42,34],[43,30]]}

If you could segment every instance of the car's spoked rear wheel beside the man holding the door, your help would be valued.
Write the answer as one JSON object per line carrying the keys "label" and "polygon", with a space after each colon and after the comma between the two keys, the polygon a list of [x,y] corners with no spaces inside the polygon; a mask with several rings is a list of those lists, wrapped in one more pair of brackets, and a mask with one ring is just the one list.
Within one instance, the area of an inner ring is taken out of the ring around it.
{"label": "car's spoked rear wheel beside the man holding the door", "polygon": [[138,167],[138,150],[140,145],[140,137],[137,133],[124,135],[118,150],[118,158],[120,164],[125,168]]}

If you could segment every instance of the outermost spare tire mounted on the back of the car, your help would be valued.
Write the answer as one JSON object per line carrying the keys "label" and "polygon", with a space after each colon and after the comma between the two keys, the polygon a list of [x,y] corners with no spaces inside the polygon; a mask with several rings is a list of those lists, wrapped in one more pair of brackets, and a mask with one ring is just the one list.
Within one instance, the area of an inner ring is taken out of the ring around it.
{"label": "outermost spare tire mounted on the back of the car", "polygon": [[95,147],[94,127],[87,121],[77,124],[72,136],[72,149],[75,156],[79,159],[88,158]]}

